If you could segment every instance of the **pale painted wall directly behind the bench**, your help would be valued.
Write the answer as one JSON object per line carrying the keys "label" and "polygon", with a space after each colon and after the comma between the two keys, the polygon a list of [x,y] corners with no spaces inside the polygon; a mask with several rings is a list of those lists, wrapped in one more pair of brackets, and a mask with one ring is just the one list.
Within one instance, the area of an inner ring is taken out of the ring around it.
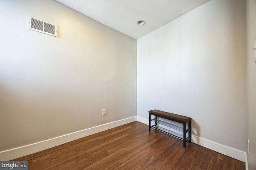
{"label": "pale painted wall directly behind the bench", "polygon": [[193,135],[245,151],[245,18],[244,1],[211,0],[138,39],[137,116],[186,115]]}

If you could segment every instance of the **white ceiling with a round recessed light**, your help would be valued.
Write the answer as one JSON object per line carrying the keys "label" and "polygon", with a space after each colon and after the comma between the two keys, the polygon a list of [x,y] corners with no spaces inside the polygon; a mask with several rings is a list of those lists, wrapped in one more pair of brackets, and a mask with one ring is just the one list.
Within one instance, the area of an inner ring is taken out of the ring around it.
{"label": "white ceiling with a round recessed light", "polygon": [[[56,0],[138,39],[210,0]],[[137,21],[144,20],[144,25]]]}

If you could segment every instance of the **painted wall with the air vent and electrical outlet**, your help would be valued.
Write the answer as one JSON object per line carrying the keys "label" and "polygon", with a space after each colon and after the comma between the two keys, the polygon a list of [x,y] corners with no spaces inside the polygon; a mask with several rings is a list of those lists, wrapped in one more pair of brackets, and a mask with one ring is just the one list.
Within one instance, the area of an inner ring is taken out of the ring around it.
{"label": "painted wall with the air vent and electrical outlet", "polygon": [[1,0],[0,21],[0,151],[136,116],[136,39],[55,0]]}

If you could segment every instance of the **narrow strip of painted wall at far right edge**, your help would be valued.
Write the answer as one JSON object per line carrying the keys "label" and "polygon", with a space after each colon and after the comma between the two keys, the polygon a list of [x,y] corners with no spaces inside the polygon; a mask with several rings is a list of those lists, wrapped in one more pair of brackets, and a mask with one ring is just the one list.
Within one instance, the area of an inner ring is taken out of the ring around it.
{"label": "narrow strip of painted wall at far right edge", "polygon": [[[256,1],[246,0],[246,28],[247,28],[247,135],[249,152],[247,152],[248,170],[256,169]],[[247,141],[247,140],[246,140]],[[247,146],[248,147],[248,146]]]}

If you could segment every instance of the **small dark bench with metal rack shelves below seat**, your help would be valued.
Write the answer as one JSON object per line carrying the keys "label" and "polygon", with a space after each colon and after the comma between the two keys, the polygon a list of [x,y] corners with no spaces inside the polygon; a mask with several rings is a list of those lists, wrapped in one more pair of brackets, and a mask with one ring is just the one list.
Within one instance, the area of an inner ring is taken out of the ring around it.
{"label": "small dark bench with metal rack shelves below seat", "polygon": [[[190,117],[177,115],[174,113],[168,113],[160,110],[150,110],[148,111],[148,113],[149,113],[149,131],[151,131],[151,127],[152,127],[164,133],[168,133],[169,135],[172,135],[174,137],[178,137],[179,139],[183,140],[183,147],[185,148],[186,148],[186,142],[187,141],[191,142],[191,118]],[[154,115],[155,118],[152,119],[151,115]],[[174,122],[182,123],[183,126],[178,125],[178,123],[171,123],[164,120],[160,120],[159,117],[162,117],[164,119],[168,119]],[[155,122],[155,124],[151,125],[151,121]],[[187,123],[188,123],[188,128],[186,128]],[[183,131],[183,135],[175,131],[161,127],[159,126],[159,124],[164,125],[166,127],[170,127],[178,131]],[[188,133],[188,137],[186,137],[187,133]]]}

